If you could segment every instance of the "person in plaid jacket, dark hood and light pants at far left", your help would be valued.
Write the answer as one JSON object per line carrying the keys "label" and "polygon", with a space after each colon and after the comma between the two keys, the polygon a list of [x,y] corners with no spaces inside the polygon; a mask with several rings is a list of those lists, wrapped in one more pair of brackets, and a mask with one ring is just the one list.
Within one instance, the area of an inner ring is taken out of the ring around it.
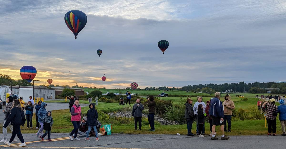
{"label": "person in plaid jacket, dark hood and light pants at far left", "polygon": [[[10,114],[10,112],[11,112],[12,107],[13,107],[13,97],[12,97],[12,96],[9,96],[9,97],[7,97],[7,106],[6,106],[6,109],[3,110],[3,113],[5,114],[5,117],[4,117],[3,128],[2,128],[3,139],[0,141],[0,143],[4,143],[4,142],[7,141],[7,133],[8,133],[8,132],[7,132],[7,127],[4,127],[4,124],[6,123],[8,117],[9,117],[9,114]],[[11,132],[13,132],[13,126],[12,126],[12,124],[8,124],[7,126],[10,128]],[[17,142],[17,139],[15,138],[15,139],[13,140],[13,142]]]}

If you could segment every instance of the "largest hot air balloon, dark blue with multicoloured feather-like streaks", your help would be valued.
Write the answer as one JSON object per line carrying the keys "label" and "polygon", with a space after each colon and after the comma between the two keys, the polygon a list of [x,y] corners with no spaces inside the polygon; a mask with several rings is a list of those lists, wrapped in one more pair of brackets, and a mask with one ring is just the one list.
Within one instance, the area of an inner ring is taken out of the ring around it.
{"label": "largest hot air balloon, dark blue with multicoloured feather-like streaks", "polygon": [[74,33],[74,38],[86,26],[88,18],[86,14],[79,10],[71,10],[65,14],[65,24]]}

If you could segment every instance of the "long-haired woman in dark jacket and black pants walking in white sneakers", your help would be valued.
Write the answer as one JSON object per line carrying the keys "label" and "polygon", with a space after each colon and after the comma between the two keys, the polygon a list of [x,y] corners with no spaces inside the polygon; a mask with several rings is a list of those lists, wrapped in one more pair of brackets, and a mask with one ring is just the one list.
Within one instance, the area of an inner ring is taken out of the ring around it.
{"label": "long-haired woman in dark jacket and black pants walking in white sneakers", "polygon": [[4,124],[4,128],[7,128],[8,125],[13,125],[13,131],[12,131],[12,136],[9,140],[9,142],[4,142],[6,145],[11,146],[11,143],[15,139],[15,136],[19,138],[21,141],[21,144],[19,144],[19,147],[26,146],[26,143],[24,141],[23,135],[21,133],[21,128],[20,126],[24,126],[25,124],[25,115],[23,112],[23,109],[21,107],[20,101],[19,100],[14,100],[13,101],[13,107],[10,111],[10,115],[7,119],[7,121]]}

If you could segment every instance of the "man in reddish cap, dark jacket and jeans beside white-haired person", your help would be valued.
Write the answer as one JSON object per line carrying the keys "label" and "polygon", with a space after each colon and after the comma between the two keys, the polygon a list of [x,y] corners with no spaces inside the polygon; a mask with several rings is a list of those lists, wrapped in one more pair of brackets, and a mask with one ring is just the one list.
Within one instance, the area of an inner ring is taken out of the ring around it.
{"label": "man in reddish cap, dark jacket and jeans beside white-haired person", "polygon": [[188,98],[187,102],[185,103],[185,119],[187,121],[187,129],[188,129],[188,134],[187,136],[194,136],[192,133],[192,125],[193,121],[195,118],[195,113],[192,107],[193,100]]}

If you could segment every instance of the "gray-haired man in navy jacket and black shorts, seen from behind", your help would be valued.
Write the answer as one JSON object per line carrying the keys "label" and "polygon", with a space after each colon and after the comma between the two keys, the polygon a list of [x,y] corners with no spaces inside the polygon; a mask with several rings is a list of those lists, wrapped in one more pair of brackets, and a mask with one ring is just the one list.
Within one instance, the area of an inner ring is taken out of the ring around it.
{"label": "gray-haired man in navy jacket and black shorts, seen from behind", "polygon": [[224,132],[223,104],[219,100],[220,98],[221,98],[221,93],[216,92],[215,97],[212,98],[212,100],[210,101],[209,115],[212,117],[212,138],[211,138],[212,140],[218,140],[219,139],[215,136],[215,127],[217,125],[221,126],[221,132],[223,134],[221,136],[221,140],[228,140],[229,139],[229,137],[227,137],[225,135],[225,132]]}

